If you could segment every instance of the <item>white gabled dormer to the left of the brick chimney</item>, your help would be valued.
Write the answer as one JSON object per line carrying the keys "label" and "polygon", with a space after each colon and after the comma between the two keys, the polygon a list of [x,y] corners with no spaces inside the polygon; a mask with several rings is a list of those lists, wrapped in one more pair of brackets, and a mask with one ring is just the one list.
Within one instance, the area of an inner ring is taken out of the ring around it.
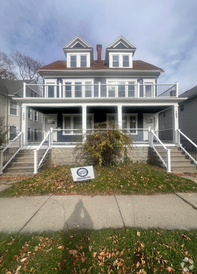
{"label": "white gabled dormer to the left of the brick chimney", "polygon": [[63,47],[67,68],[89,68],[93,64],[93,48],[80,36],[76,36],[65,47]]}

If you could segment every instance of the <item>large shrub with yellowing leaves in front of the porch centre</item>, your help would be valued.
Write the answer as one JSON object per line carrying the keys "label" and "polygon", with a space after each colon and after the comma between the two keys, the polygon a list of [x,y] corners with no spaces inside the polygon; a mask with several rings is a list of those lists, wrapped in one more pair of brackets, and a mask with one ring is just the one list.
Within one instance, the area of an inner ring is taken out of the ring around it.
{"label": "large shrub with yellowing leaves in front of the porch centre", "polygon": [[88,130],[75,146],[75,152],[79,149],[87,155],[87,160],[93,160],[100,166],[109,166],[116,162],[116,158],[122,153],[123,162],[128,163],[127,147],[131,148],[132,140],[124,129],[113,125],[109,127],[106,122],[95,123],[95,130]]}

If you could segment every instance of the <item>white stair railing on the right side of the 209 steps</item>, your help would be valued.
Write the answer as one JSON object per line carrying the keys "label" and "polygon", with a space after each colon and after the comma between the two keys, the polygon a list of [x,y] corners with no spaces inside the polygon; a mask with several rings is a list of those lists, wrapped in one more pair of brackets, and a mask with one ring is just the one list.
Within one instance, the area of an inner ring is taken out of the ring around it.
{"label": "white stair railing on the right side of the 209 steps", "polygon": [[39,147],[34,150],[34,174],[38,173],[38,168],[42,164],[47,152],[51,148],[51,132],[48,131]]}

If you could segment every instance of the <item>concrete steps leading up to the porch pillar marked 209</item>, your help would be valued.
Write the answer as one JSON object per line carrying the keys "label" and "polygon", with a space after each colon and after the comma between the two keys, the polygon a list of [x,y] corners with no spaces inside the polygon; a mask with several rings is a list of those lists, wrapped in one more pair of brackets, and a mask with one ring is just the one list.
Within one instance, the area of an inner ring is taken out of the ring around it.
{"label": "concrete steps leading up to the porch pillar marked 209", "polygon": [[3,176],[26,176],[34,173],[34,151],[21,150],[3,170]]}

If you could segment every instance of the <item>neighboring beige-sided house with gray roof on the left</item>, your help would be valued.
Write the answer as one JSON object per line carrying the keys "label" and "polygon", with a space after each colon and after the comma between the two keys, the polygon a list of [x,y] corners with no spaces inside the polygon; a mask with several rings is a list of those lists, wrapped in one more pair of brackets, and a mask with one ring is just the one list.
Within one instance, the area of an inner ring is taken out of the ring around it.
{"label": "neighboring beige-sided house with gray roof on the left", "polygon": [[[8,138],[13,140],[22,130],[22,103],[14,97],[22,97],[24,80],[3,80],[0,78],[0,116],[5,116],[9,126]],[[25,80],[28,84],[37,84],[36,80]],[[42,135],[42,113],[28,108],[28,141],[35,142]],[[39,138],[40,139],[40,138]]]}

